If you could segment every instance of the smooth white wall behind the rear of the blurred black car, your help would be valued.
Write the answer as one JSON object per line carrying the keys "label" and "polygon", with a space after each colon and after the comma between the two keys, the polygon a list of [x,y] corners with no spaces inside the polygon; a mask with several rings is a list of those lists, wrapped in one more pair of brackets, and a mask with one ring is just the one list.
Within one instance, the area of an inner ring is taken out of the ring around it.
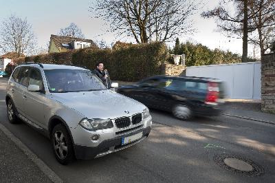
{"label": "smooth white wall behind the rear of the blurred black car", "polygon": [[261,62],[186,67],[186,76],[223,80],[227,98],[261,99]]}

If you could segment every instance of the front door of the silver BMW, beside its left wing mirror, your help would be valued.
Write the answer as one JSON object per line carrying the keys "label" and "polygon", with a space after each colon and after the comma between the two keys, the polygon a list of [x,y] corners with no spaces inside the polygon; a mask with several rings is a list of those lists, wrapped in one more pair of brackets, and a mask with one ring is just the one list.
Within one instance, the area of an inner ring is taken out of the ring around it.
{"label": "front door of the silver BMW, beside its left wing mirror", "polygon": [[30,70],[28,85],[39,85],[39,92],[25,91],[25,114],[29,120],[40,127],[45,127],[44,108],[46,103],[45,89],[41,71],[33,67]]}

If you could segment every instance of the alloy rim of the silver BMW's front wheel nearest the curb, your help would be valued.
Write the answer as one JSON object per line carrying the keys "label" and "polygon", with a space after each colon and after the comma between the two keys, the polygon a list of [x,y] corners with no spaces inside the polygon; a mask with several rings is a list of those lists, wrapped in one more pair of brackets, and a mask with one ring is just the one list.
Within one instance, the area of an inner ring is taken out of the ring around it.
{"label": "alloy rim of the silver BMW's front wheel nearest the curb", "polygon": [[68,147],[62,131],[56,131],[54,133],[54,151],[61,160],[67,157]]}

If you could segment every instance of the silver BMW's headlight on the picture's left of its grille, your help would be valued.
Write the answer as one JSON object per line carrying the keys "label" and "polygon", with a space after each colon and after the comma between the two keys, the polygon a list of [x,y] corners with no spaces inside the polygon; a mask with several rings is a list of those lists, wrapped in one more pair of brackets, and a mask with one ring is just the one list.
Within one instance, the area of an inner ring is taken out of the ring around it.
{"label": "silver BMW's headlight on the picture's left of its grille", "polygon": [[113,127],[113,122],[110,119],[87,119],[84,118],[79,122],[79,125],[87,130],[109,129]]}

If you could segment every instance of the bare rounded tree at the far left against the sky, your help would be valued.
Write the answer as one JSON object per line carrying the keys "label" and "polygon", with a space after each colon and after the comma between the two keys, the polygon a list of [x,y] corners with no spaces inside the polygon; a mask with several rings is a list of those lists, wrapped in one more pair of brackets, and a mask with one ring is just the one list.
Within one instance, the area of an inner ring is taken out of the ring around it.
{"label": "bare rounded tree at the far left against the sky", "polygon": [[32,54],[36,48],[36,36],[27,19],[11,15],[1,23],[0,49],[2,52],[17,52],[17,54]]}

